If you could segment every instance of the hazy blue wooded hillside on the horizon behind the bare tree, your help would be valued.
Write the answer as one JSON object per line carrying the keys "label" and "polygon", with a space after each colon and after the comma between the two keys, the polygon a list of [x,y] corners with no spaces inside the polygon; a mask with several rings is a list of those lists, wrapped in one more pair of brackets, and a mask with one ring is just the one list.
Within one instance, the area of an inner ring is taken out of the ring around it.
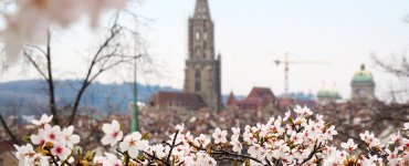
{"label": "hazy blue wooded hillside on the horizon behind the bare tree", "polygon": [[[55,94],[59,105],[66,106],[75,97],[74,90],[81,85],[80,80],[56,81]],[[138,101],[147,102],[157,91],[180,91],[169,86],[138,84]],[[13,81],[0,83],[0,106],[3,114],[13,111],[24,114],[41,113],[46,108],[46,84],[41,80]],[[133,84],[94,83],[85,92],[82,106],[93,107],[101,112],[126,112],[133,101]]]}

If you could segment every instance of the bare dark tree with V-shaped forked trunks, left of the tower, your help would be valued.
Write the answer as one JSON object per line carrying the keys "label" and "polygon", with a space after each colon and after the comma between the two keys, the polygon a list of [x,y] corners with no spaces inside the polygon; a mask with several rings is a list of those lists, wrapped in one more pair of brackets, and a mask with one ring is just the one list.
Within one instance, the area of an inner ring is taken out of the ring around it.
{"label": "bare dark tree with V-shaped forked trunks, left of the tower", "polygon": [[[53,75],[53,52],[52,52],[52,30],[48,32],[48,42],[45,48],[39,45],[27,44],[23,49],[23,55],[28,60],[35,71],[46,82],[48,96],[49,96],[49,110],[54,116],[54,124],[60,125],[72,125],[75,121],[75,115],[80,110],[82,97],[90,87],[90,85],[96,81],[98,76],[106,73],[115,68],[132,64],[134,59],[141,58],[141,53],[136,52],[134,46],[137,46],[137,41],[140,40],[139,33],[120,22],[123,14],[130,12],[116,12],[112,19],[112,24],[107,28],[107,35],[101,42],[101,44],[94,50],[94,53],[88,55],[91,61],[87,64],[86,72],[82,76],[81,85],[76,91],[74,101],[71,103],[72,108],[67,118],[61,118],[59,113],[59,106],[55,96],[55,77]],[[132,15],[135,17],[135,15]],[[135,20],[137,21],[137,20]],[[129,22],[126,22],[129,23]],[[133,42],[130,42],[133,41]],[[129,44],[130,43],[130,44]],[[147,54],[144,53],[144,56]]]}

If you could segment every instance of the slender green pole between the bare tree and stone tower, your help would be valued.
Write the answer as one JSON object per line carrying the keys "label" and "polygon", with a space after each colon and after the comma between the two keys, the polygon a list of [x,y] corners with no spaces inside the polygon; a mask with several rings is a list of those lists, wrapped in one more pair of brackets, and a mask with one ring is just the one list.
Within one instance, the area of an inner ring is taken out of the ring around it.
{"label": "slender green pole between the bare tree and stone tower", "polygon": [[130,132],[139,131],[139,108],[138,108],[138,85],[137,85],[137,60],[138,56],[134,58],[134,103],[130,117]]}

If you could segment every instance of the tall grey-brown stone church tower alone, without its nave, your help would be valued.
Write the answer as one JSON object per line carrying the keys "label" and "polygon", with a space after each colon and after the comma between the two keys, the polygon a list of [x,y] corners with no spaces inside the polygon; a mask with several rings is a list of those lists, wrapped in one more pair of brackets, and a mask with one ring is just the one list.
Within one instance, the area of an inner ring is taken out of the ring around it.
{"label": "tall grey-brown stone church tower alone, without its nave", "polygon": [[197,0],[189,18],[185,92],[199,94],[207,106],[221,110],[221,56],[214,55],[214,30],[208,0]]}

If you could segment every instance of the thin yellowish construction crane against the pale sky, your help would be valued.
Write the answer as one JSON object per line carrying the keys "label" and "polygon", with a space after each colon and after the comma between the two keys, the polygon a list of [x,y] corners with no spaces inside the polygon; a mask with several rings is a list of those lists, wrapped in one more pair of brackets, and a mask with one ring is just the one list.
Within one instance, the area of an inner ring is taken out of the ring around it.
{"label": "thin yellowish construction crane against the pale sky", "polygon": [[284,65],[284,98],[289,100],[289,76],[290,76],[290,64],[325,64],[327,62],[321,62],[321,61],[290,61],[289,60],[289,53],[285,52],[284,60],[275,60],[274,63],[276,65],[283,64]]}

